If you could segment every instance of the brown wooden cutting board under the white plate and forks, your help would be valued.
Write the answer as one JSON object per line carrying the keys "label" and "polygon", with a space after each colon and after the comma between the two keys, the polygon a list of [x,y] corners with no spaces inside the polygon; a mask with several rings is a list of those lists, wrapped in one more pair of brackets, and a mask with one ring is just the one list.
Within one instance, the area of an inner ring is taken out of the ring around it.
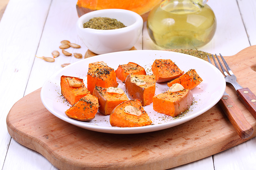
{"label": "brown wooden cutting board under the white plate and forks", "polygon": [[[225,57],[238,83],[256,94],[256,46]],[[226,91],[254,128],[256,120],[231,85]],[[241,144],[219,104],[184,124],[142,134],[107,134],[76,127],[43,106],[40,89],[23,97],[8,113],[7,128],[20,144],[41,153],[59,169],[168,169]]]}

